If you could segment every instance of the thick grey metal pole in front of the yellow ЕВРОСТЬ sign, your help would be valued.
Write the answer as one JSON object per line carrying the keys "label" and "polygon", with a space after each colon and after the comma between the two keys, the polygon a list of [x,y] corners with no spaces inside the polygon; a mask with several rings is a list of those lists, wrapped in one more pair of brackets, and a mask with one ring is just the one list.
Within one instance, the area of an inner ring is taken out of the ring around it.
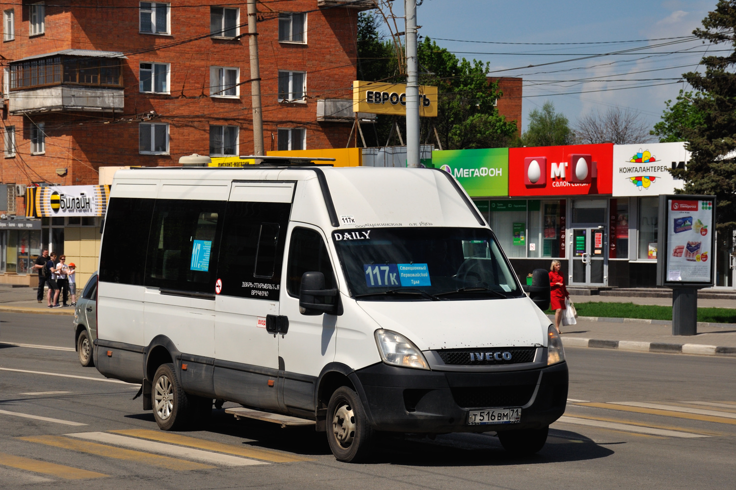
{"label": "thick grey metal pole in front of the yellow \u0415\u0412\u0420\u041e\u0421\u0422\u042c sign", "polygon": [[419,68],[417,60],[417,0],[404,0],[406,15],[406,166],[419,168]]}

